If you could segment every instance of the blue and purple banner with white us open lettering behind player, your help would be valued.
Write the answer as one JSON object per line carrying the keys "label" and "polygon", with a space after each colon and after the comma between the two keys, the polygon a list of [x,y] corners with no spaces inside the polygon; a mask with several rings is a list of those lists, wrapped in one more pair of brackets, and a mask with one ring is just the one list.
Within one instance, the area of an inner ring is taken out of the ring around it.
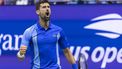
{"label": "blue and purple banner with white us open lettering behind player", "polygon": [[[83,53],[88,69],[122,68],[122,5],[52,5],[51,23],[62,27],[75,59]],[[0,6],[0,69],[29,69],[17,59],[22,34],[38,21],[34,6]],[[62,69],[71,65],[60,51]]]}

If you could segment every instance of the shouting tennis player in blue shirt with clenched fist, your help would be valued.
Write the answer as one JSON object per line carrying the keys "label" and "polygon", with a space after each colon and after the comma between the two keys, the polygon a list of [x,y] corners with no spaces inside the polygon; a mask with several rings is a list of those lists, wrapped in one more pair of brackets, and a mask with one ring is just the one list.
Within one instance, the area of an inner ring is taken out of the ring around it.
{"label": "shouting tennis player in blue shirt with clenched fist", "polygon": [[58,52],[60,47],[71,63],[72,69],[77,69],[63,29],[50,23],[50,3],[47,0],[38,2],[36,13],[39,16],[39,21],[25,30],[17,57],[23,60],[27,48],[30,47],[31,69],[61,69]]}

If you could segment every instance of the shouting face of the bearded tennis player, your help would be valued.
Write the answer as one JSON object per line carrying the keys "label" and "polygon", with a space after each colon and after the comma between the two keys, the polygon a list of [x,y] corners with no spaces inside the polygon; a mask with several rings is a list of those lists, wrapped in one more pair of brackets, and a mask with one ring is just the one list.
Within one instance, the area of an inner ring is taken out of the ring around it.
{"label": "shouting face of the bearded tennis player", "polygon": [[40,4],[40,8],[37,11],[37,14],[44,20],[49,21],[51,9],[50,5],[48,3],[42,3]]}

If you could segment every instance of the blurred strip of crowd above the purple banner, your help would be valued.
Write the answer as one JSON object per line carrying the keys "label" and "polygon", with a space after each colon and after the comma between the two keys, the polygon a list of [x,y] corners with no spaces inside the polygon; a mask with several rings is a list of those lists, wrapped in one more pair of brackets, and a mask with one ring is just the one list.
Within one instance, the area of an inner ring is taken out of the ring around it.
{"label": "blurred strip of crowd above the purple banner", "polygon": [[[34,5],[39,0],[0,0],[0,5]],[[49,0],[52,4],[122,4],[122,0]]]}

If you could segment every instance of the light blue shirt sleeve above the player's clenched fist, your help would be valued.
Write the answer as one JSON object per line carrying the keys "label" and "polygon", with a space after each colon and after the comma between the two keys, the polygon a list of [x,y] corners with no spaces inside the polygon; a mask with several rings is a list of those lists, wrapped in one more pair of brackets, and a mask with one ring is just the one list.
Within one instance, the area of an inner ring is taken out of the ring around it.
{"label": "light blue shirt sleeve above the player's clenched fist", "polygon": [[25,30],[25,32],[23,33],[21,46],[29,46],[30,39],[31,39],[31,33],[30,33],[30,30],[27,29],[27,30]]}

